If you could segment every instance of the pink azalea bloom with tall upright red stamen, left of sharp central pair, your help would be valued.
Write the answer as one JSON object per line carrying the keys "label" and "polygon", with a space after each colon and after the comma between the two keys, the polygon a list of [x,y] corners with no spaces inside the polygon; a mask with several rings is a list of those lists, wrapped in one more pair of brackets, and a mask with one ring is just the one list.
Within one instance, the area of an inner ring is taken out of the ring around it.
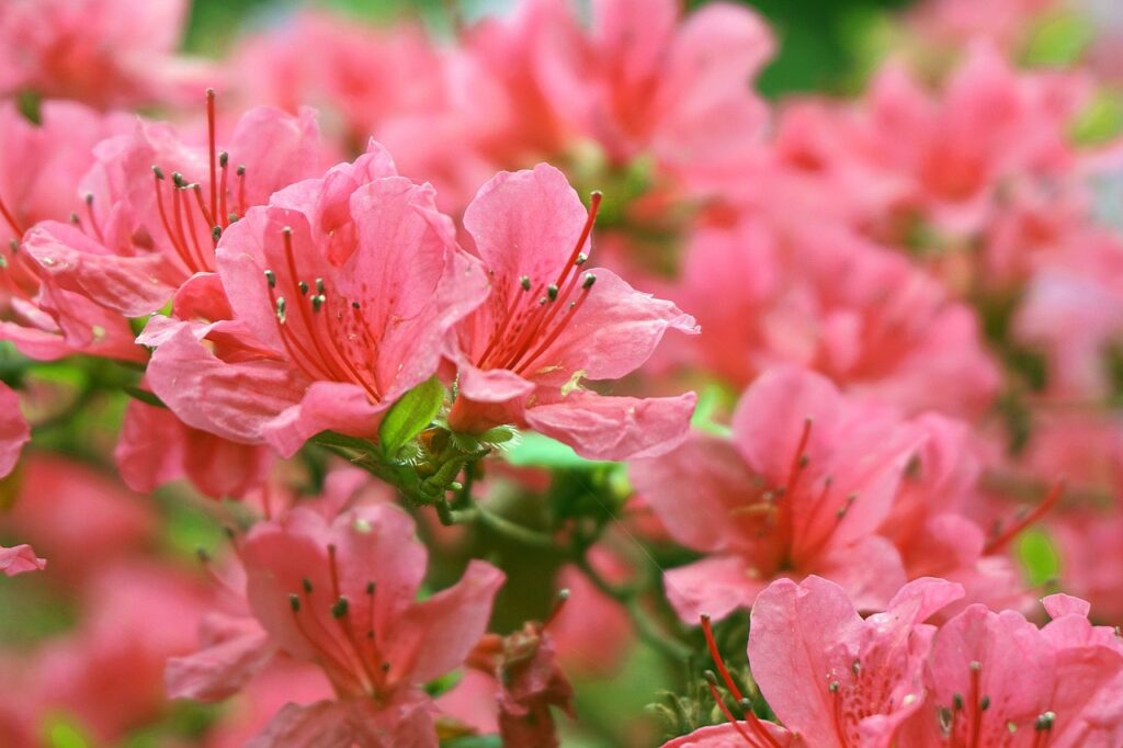
{"label": "pink azalea bloom with tall upright red stamen, left of sharp central pair", "polygon": [[227,152],[216,144],[213,106],[211,91],[200,145],[166,124],[141,121],[98,146],[84,180],[84,222],[44,222],[28,234],[44,282],[126,317],[152,313],[192,275],[214,271],[214,247],[232,217],[320,173],[310,110],[255,109],[238,121]]}

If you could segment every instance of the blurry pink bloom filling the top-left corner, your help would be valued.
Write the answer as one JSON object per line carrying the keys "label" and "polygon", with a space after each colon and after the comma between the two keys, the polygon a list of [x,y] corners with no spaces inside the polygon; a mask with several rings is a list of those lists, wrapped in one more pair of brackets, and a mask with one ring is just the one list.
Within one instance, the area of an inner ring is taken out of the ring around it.
{"label": "blurry pink bloom filling the top-left corner", "polygon": [[97,107],[182,100],[206,74],[174,53],[186,0],[11,0],[0,8],[0,93]]}

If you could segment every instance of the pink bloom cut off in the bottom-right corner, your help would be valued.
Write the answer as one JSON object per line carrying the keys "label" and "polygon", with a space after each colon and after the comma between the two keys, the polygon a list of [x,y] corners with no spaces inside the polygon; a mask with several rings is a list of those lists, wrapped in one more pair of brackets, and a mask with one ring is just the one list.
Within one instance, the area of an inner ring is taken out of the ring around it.
{"label": "pink bloom cut off in the bottom-right corner", "polygon": [[1088,605],[1053,595],[1038,629],[1013,611],[970,605],[932,642],[930,706],[910,745],[1114,746],[1123,737],[1123,648],[1088,623]]}

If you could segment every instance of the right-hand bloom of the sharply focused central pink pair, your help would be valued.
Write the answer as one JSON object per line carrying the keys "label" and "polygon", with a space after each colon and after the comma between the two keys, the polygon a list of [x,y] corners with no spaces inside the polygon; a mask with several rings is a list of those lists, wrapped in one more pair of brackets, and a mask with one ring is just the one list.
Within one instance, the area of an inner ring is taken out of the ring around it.
{"label": "right-hand bloom of the sharply focused central pink pair", "polygon": [[670,302],[585,270],[594,218],[545,164],[499,174],[468,207],[464,222],[490,294],[456,329],[454,430],[514,423],[593,459],[661,454],[684,438],[693,393],[645,400],[581,384],[631,373],[668,329],[696,331]]}

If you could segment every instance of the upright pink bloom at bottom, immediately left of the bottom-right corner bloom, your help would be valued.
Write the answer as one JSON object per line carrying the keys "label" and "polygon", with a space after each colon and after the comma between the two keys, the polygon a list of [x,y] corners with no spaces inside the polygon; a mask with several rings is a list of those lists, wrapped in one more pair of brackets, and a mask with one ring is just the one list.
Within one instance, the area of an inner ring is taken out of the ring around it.
{"label": "upright pink bloom at bottom, immediately left of the bottom-right corner bloom", "polygon": [[897,745],[921,710],[934,626],[923,621],[962,595],[950,582],[910,582],[885,612],[862,619],[837,584],[777,580],[752,605],[749,662],[776,717],[809,746]]}

